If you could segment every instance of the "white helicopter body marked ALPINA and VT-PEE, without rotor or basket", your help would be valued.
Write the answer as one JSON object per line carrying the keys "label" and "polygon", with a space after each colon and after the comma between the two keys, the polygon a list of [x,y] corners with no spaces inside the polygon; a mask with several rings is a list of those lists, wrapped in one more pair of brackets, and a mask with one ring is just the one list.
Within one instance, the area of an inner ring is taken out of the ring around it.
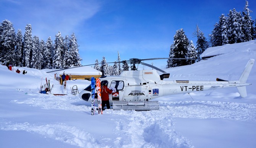
{"label": "white helicopter body marked ALPINA and VT-PEE, without rotor or basket", "polygon": [[[101,84],[107,83],[108,88],[116,92],[109,94],[112,101],[149,101],[166,95],[200,92],[219,88],[237,87],[241,97],[246,97],[246,80],[250,74],[254,60],[250,59],[245,71],[236,81],[189,81],[164,80],[169,74],[159,76],[156,70],[123,71],[119,76],[100,77]],[[79,93],[85,101],[91,100],[91,86]]]}

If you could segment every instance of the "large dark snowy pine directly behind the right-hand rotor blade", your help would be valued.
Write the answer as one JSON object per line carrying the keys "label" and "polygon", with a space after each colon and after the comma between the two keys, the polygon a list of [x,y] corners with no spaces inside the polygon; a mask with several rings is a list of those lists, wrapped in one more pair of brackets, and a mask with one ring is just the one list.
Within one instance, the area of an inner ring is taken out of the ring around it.
{"label": "large dark snowy pine directly behind the right-hand rotor blade", "polygon": [[[173,45],[170,50],[170,53],[172,54],[170,58],[186,58],[187,51],[188,51],[188,45],[189,40],[187,36],[185,35],[185,32],[183,29],[179,29],[176,31],[176,34],[174,35],[174,41]],[[172,59],[171,67],[177,67],[177,66],[184,66],[187,65],[186,60],[181,59]]]}

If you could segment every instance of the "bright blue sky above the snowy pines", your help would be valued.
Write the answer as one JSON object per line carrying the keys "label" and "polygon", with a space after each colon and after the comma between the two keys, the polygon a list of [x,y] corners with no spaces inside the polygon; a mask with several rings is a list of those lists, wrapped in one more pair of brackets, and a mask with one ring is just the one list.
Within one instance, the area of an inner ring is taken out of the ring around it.
{"label": "bright blue sky above the snowy pines", "polygon": [[[255,20],[256,1],[248,2]],[[245,0],[1,0],[0,21],[8,19],[23,34],[31,24],[32,35],[45,41],[58,31],[63,37],[75,32],[86,65],[103,56],[115,61],[117,51],[121,60],[168,57],[178,29],[196,44],[196,24],[208,38],[222,13],[244,6]],[[146,63],[164,68],[166,61]]]}

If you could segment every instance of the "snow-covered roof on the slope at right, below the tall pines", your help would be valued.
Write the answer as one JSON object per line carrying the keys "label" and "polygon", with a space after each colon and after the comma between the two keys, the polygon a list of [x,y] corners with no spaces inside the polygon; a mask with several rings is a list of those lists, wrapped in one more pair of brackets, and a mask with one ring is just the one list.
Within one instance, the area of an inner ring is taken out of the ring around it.
{"label": "snow-covered roof on the slope at right, below the tall pines", "polygon": [[235,43],[235,44],[226,44],[223,46],[217,46],[217,47],[210,47],[207,48],[202,54],[201,57],[209,57],[209,56],[215,56],[215,55],[222,55],[226,53],[233,53],[235,51],[246,51],[250,50],[252,47],[251,45],[256,46],[256,40],[251,40],[248,42],[243,43]]}

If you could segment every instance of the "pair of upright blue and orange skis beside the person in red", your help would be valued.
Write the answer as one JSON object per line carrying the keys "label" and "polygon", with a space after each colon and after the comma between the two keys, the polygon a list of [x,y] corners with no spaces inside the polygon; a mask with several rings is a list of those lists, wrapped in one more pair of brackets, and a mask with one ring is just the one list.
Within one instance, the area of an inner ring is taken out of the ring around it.
{"label": "pair of upright blue and orange skis beside the person in red", "polygon": [[[102,114],[102,105],[101,105],[101,93],[100,93],[100,79],[96,79],[96,90],[97,90],[97,96],[98,96],[98,112],[99,114]],[[91,78],[91,90],[92,90],[92,109],[91,109],[91,115],[95,114],[95,79],[94,77]]]}

